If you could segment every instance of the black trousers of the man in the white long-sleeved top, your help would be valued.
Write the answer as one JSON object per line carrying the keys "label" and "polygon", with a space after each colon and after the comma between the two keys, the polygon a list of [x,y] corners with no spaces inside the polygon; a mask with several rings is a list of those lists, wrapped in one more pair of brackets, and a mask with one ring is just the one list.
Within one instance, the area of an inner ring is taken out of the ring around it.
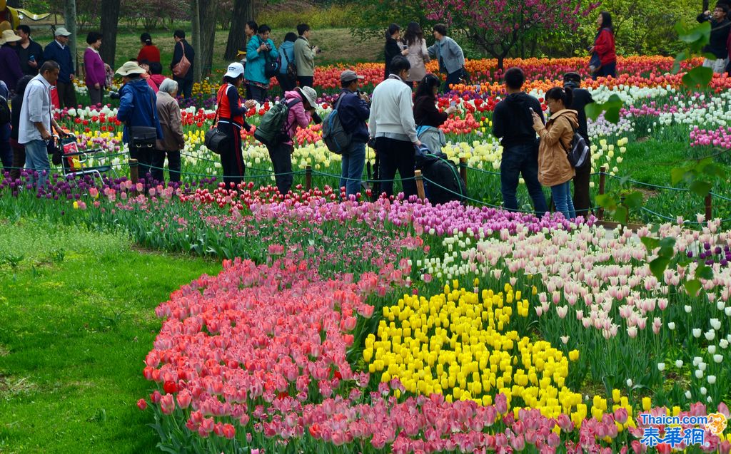
{"label": "black trousers of the man in the white long-sleeved top", "polygon": [[376,138],[376,153],[378,153],[379,161],[381,162],[379,169],[381,192],[385,192],[387,196],[393,196],[393,179],[398,170],[398,174],[401,177],[401,185],[404,188],[404,196],[407,198],[409,196],[415,196],[415,161],[414,145],[412,142],[378,137]]}

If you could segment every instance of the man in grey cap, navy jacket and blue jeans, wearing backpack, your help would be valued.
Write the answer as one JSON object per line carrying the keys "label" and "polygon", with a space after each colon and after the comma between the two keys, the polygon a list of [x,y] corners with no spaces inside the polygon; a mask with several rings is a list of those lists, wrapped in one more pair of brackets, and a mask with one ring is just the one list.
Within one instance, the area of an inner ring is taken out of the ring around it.
{"label": "man in grey cap, navy jacket and blue jeans, wearing backpack", "polygon": [[358,91],[360,80],[364,78],[350,69],[342,72],[340,97],[336,101],[340,123],[346,134],[351,134],[350,145],[342,155],[340,177],[340,187],[345,187],[347,196],[356,196],[360,193],[360,178],[363,177],[363,166],[366,164],[368,142],[366,121],[371,116],[371,100],[366,93]]}

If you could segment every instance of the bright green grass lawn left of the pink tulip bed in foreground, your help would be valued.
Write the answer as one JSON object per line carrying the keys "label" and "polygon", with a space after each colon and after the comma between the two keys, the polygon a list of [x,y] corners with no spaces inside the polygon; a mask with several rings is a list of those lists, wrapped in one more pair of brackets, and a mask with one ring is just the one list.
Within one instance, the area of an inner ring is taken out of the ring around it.
{"label": "bright green grass lawn left of the pink tulip bed in foreground", "polygon": [[125,234],[0,221],[0,453],[148,453],[154,309],[217,261]]}

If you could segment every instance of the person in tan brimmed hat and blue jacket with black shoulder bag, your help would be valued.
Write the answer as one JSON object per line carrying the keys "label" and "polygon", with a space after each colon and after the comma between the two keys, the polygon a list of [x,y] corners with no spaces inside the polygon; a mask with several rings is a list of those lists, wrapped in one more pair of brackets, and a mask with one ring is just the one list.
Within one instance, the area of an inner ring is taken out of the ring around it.
{"label": "person in tan brimmed hat and blue jacket with black shoulder bag", "polygon": [[122,77],[122,88],[119,90],[119,109],[117,120],[124,123],[122,130],[122,142],[129,145],[129,157],[137,159],[140,166],[140,173],[148,177],[150,164],[154,157],[154,147],[149,149],[137,149],[132,142],[132,128],[146,126],[156,128],[157,139],[162,140],[162,128],[157,119],[157,98],[155,93],[140,75],[145,72],[136,61],[128,61],[117,74]]}

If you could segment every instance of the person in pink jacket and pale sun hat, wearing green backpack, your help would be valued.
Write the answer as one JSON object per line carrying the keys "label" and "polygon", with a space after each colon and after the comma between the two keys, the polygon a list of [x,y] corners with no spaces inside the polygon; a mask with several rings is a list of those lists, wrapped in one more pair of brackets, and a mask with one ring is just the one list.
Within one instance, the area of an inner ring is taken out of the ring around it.
{"label": "person in pink jacket and pale sun hat, wearing green backpack", "polygon": [[284,196],[292,188],[292,152],[295,150],[292,139],[295,137],[297,128],[306,128],[312,118],[317,117],[315,107],[317,106],[317,91],[311,87],[298,87],[284,93],[284,101],[289,106],[287,122],[284,123],[282,131],[287,139],[268,145],[269,158],[272,160],[274,179],[279,193]]}

